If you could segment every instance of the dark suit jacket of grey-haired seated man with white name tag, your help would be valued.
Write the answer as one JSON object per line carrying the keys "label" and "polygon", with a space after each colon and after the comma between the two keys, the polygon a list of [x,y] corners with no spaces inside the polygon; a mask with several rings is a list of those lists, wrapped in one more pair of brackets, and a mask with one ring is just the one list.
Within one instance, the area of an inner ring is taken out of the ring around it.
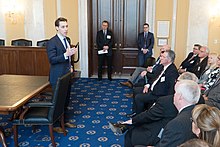
{"label": "dark suit jacket of grey-haired seated man with white name tag", "polygon": [[[178,76],[179,74],[176,66],[173,63],[170,64],[170,66],[165,70],[163,75],[155,84],[152,94],[156,96],[165,96],[165,95],[174,94],[174,85]],[[152,85],[152,83],[150,84]]]}

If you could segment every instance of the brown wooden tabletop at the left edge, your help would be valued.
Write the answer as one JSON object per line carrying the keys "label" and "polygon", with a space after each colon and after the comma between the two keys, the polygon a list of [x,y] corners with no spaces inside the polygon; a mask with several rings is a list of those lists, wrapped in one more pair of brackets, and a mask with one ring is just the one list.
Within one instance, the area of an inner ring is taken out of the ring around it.
{"label": "brown wooden tabletop at the left edge", "polygon": [[0,75],[0,114],[16,112],[49,85],[47,76]]}

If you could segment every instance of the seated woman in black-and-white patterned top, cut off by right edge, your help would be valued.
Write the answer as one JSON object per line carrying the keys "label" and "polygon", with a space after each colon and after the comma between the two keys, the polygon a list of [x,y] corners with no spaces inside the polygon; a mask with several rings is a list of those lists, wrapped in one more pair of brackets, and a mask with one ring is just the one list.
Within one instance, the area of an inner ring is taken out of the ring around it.
{"label": "seated woman in black-and-white patterned top, cut off by right edge", "polygon": [[215,81],[219,76],[220,76],[220,55],[217,58],[215,68],[208,74],[207,80],[205,80],[202,84],[200,84],[202,91],[206,92],[215,83]]}

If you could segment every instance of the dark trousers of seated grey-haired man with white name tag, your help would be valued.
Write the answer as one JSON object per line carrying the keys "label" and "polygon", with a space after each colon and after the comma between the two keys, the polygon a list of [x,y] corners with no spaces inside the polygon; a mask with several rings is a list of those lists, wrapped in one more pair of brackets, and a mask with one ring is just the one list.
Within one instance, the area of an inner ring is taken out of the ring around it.
{"label": "dark trousers of seated grey-haired man with white name tag", "polygon": [[153,95],[152,92],[143,93],[143,87],[135,87],[132,110],[139,114],[150,108],[157,99],[158,96]]}

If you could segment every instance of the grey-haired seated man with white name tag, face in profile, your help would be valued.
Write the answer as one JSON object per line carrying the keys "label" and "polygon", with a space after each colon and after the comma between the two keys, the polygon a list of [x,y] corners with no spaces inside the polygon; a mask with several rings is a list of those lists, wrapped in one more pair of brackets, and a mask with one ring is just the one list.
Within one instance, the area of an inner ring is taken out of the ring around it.
{"label": "grey-haired seated man with white name tag, face in profile", "polygon": [[[161,54],[158,75],[154,80],[149,81],[143,87],[134,89],[133,113],[139,114],[144,111],[146,104],[155,102],[159,97],[174,94],[174,85],[179,76],[176,66],[174,65],[175,53],[172,50]],[[156,71],[155,71],[156,72]],[[128,115],[129,116],[129,115]]]}

